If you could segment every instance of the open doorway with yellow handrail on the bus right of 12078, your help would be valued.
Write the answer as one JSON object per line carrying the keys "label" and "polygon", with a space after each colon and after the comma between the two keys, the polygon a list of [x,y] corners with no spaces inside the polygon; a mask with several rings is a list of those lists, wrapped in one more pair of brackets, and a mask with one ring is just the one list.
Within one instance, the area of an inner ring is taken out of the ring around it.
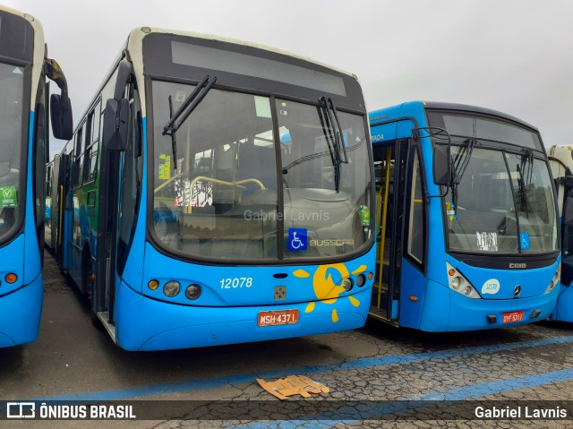
{"label": "open doorway with yellow handrail on the bus right of 12078", "polygon": [[376,279],[370,315],[398,324],[410,140],[374,150],[377,172]]}

